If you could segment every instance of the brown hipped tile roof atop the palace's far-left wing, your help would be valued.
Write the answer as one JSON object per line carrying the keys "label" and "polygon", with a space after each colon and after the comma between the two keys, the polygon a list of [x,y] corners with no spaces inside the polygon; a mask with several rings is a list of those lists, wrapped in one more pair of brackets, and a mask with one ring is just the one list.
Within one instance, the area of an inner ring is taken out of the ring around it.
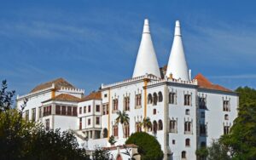
{"label": "brown hipped tile roof atop the palace's far-left wing", "polygon": [[32,91],[30,91],[30,93],[37,92],[37,91],[43,90],[43,89],[47,89],[47,88],[51,87],[53,83],[55,84],[56,89],[61,89],[61,87],[67,87],[67,88],[71,88],[71,89],[75,88],[71,83],[68,83],[65,79],[60,77],[55,80],[49,81],[47,83],[39,84],[34,89],[32,89]]}

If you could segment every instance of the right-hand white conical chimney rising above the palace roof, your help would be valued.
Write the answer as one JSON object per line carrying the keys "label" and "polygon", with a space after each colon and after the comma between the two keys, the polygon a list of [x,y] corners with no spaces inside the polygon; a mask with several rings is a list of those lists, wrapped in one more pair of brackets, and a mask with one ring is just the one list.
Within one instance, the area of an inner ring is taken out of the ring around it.
{"label": "right-hand white conical chimney rising above the palace roof", "polygon": [[180,78],[182,80],[189,81],[189,70],[183,50],[182,35],[178,20],[175,24],[174,38],[168,61],[166,77],[170,77],[171,74],[175,79]]}

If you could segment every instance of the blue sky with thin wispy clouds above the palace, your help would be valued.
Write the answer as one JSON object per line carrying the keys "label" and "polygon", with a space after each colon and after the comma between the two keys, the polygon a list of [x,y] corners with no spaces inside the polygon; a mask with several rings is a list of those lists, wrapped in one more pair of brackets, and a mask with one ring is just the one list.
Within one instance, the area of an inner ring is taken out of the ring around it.
{"label": "blue sky with thin wispy clouds above the palace", "polygon": [[26,94],[64,77],[88,94],[132,76],[148,18],[160,66],[175,20],[195,76],[256,88],[254,1],[0,1],[0,80]]}

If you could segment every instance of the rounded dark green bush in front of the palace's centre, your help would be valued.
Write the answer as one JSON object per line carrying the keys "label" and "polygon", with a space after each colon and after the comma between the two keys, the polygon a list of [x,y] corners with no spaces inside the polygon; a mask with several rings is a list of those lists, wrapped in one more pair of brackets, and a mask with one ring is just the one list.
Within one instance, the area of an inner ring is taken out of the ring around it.
{"label": "rounded dark green bush in front of the palace's centre", "polygon": [[131,134],[129,139],[125,141],[125,144],[137,145],[138,153],[141,155],[142,160],[162,159],[164,155],[158,140],[145,132]]}

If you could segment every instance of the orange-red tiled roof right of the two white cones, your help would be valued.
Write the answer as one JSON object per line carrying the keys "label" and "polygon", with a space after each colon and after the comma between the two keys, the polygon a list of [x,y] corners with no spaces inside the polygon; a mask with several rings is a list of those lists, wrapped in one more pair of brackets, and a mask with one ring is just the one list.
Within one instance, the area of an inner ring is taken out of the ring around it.
{"label": "orange-red tiled roof right of the two white cones", "polygon": [[201,73],[197,74],[194,78],[197,80],[198,85],[201,89],[213,89],[213,90],[220,90],[224,92],[232,92],[232,90],[230,89],[226,89],[218,84],[211,83],[207,79],[207,77],[204,77]]}

